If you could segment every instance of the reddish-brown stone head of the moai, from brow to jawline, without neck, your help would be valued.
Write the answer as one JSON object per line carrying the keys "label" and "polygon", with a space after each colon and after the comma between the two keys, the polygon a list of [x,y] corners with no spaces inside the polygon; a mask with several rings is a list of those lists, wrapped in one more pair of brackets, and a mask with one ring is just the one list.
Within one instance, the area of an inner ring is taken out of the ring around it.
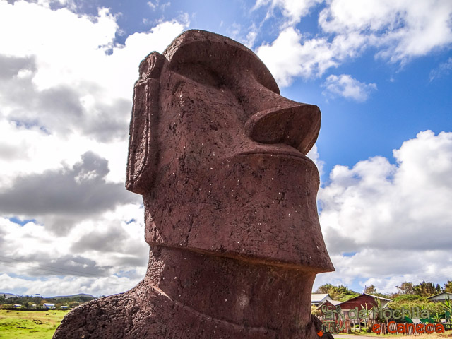
{"label": "reddish-brown stone head of the moai, from brow to jawline, without neck", "polygon": [[211,32],[184,32],[139,72],[126,188],[143,195],[146,241],[333,270],[306,157],[319,108],[282,97],[256,54]]}

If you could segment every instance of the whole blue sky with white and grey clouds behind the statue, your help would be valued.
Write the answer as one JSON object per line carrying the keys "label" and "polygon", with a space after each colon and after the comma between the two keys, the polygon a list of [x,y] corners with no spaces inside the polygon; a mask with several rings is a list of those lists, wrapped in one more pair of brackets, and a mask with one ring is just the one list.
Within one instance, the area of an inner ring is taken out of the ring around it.
{"label": "whole blue sky with white and grey clouds behind the statue", "polygon": [[452,280],[452,1],[0,0],[0,292],[124,292],[144,276],[124,188],[138,64],[184,30],[242,42],[318,105],[309,153],[335,272]]}

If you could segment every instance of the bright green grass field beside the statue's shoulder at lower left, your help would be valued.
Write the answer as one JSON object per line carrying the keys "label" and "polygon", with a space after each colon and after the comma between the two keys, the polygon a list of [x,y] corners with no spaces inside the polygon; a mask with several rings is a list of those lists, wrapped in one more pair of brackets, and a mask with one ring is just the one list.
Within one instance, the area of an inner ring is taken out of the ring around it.
{"label": "bright green grass field beside the statue's shoulder at lower left", "polygon": [[68,312],[0,310],[0,338],[50,339]]}

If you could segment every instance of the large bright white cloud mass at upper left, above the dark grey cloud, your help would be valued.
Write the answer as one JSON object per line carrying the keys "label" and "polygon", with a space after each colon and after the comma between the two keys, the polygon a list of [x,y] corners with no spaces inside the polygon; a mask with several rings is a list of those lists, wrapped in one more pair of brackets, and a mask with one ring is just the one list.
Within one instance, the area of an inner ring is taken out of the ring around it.
{"label": "large bright white cloud mass at upper left, above the dark grey cloud", "polygon": [[106,9],[92,17],[1,0],[0,29],[8,34],[0,37],[0,184],[72,166],[88,150],[108,160],[108,181],[124,182],[138,64],[186,24],[162,22],[113,46],[119,28]]}

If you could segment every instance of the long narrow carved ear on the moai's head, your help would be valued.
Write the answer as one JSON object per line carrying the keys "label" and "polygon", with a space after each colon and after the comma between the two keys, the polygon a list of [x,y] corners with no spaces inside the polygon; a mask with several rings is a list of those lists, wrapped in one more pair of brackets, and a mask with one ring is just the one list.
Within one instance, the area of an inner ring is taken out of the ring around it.
{"label": "long narrow carved ear on the moai's head", "polygon": [[166,62],[160,53],[149,54],[141,61],[133,90],[126,189],[138,194],[150,191],[157,172],[160,73]]}

